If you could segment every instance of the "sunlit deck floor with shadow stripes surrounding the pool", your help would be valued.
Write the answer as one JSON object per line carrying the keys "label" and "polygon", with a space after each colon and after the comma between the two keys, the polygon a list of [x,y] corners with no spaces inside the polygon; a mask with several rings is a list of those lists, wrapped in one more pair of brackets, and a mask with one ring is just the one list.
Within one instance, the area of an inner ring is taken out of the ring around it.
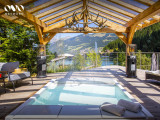
{"label": "sunlit deck floor with shadow stripes surrounding the pool", "polygon": [[7,114],[25,102],[36,91],[42,88],[50,79],[53,78],[115,78],[120,84],[155,117],[160,120],[160,83],[145,81],[145,71],[137,70],[137,78],[126,78],[125,68],[121,66],[105,66],[91,70],[79,72],[63,72],[48,74],[47,78],[34,78],[34,85],[30,79],[26,79],[21,86],[16,88],[16,92],[7,89],[7,93],[0,89],[0,120]]}

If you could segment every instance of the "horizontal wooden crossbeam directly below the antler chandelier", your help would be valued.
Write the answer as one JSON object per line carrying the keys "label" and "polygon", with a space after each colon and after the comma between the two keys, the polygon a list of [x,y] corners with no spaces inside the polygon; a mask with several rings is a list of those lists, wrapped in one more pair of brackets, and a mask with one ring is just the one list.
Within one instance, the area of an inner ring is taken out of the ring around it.
{"label": "horizontal wooden crossbeam directly below the antler chandelier", "polygon": [[[80,28],[83,30],[83,28]],[[88,32],[80,32],[80,31],[75,31],[75,30],[70,30],[68,28],[55,28],[53,30],[50,30],[49,32],[57,32],[57,33],[88,33]],[[111,30],[110,28],[103,28],[101,30],[96,30],[96,31],[91,31],[89,33],[115,33],[114,30]]]}

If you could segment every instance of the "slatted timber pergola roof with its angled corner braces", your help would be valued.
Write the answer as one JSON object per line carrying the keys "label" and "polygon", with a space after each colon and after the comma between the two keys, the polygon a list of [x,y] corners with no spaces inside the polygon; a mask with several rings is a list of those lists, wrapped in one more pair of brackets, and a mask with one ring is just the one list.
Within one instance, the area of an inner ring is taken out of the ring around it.
{"label": "slatted timber pergola roof with its angled corner braces", "polygon": [[[22,25],[21,19],[31,23],[40,43],[46,44],[56,33],[79,32],[64,28],[65,19],[72,20],[73,13],[81,13],[86,3],[93,17],[99,13],[99,21],[108,20],[108,28],[93,32],[115,33],[126,44],[132,43],[136,30],[160,20],[160,0],[0,0],[0,16]],[[23,5],[25,10],[22,15],[11,17],[5,14],[6,5]],[[45,38],[46,33],[49,35]]]}

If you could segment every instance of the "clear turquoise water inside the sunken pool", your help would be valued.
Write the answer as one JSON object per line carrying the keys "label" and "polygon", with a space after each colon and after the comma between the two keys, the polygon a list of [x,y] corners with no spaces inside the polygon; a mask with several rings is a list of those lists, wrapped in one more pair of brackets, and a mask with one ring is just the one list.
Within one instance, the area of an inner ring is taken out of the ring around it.
{"label": "clear turquoise water inside the sunken pool", "polygon": [[131,101],[116,85],[106,84],[51,84],[31,105],[101,105]]}

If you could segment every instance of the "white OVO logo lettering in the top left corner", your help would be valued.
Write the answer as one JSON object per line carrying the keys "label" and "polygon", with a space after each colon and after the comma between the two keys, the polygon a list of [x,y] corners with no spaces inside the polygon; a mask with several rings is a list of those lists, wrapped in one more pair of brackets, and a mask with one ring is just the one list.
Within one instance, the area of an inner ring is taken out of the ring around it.
{"label": "white OVO logo lettering in the top left corner", "polygon": [[24,6],[23,5],[6,5],[4,7],[5,15],[13,16],[13,15],[22,15]]}

